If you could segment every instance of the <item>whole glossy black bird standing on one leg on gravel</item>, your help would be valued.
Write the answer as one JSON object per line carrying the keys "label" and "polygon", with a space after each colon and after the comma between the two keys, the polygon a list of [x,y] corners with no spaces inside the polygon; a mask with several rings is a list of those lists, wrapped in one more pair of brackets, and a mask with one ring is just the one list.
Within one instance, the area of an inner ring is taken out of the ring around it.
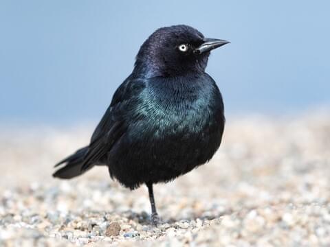
{"label": "whole glossy black bird standing on one leg on gravel", "polygon": [[73,178],[107,165],[125,187],[173,180],[212,158],[221,143],[223,100],[205,72],[210,50],[228,41],[204,38],[187,25],[156,30],[137,54],[89,145],[65,158],[53,176]]}

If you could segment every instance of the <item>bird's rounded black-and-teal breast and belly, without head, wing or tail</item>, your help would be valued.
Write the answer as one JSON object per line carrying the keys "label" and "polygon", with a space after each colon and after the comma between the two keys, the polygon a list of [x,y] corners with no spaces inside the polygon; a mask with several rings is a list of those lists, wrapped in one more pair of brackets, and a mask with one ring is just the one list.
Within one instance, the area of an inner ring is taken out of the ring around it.
{"label": "bird's rounded black-and-teal breast and belly, without head, wing or tail", "polygon": [[133,96],[118,108],[126,130],[106,157],[111,176],[133,189],[176,178],[212,157],[223,132],[223,107],[208,75],[126,83]]}

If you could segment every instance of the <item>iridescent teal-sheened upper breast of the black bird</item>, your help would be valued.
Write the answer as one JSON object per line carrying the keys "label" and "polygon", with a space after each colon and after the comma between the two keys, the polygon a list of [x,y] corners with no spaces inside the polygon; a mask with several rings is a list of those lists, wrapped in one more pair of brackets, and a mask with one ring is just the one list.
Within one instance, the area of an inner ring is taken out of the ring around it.
{"label": "iridescent teal-sheened upper breast of the black bird", "polygon": [[136,111],[135,130],[149,133],[143,136],[155,139],[205,133],[205,129],[217,124],[214,121],[219,119],[218,106],[214,108],[213,105],[217,102],[214,97],[221,95],[217,95],[214,86],[207,80],[196,78],[151,82],[146,86],[142,103]]}

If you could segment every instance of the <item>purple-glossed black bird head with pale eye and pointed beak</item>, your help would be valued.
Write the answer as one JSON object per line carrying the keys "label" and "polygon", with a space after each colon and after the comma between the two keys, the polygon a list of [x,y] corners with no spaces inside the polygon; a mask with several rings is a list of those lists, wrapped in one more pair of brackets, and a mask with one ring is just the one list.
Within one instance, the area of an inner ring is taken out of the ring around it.
{"label": "purple-glossed black bird head with pale eye and pointed beak", "polygon": [[187,25],[162,27],[144,41],[136,56],[134,72],[148,78],[201,73],[210,51],[227,43],[205,38]]}

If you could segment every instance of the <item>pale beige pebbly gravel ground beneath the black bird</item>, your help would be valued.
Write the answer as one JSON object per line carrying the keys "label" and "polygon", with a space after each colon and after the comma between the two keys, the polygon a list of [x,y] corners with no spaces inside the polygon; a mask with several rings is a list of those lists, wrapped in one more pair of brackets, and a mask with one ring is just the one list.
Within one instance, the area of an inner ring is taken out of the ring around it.
{"label": "pale beige pebbly gravel ground beneath the black bird", "polygon": [[96,167],[74,180],[52,165],[92,128],[2,128],[0,246],[330,246],[330,117],[229,119],[212,161],[129,191]]}

